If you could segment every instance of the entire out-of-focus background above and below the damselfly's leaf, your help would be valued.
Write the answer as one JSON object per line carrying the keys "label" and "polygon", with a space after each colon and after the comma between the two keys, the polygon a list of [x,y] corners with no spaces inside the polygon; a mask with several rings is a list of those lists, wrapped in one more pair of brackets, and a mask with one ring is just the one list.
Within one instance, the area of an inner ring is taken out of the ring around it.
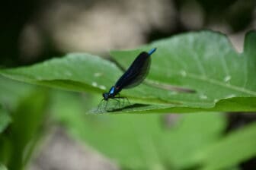
{"label": "entire out-of-focus background above and below the damselfly's leaf", "polygon": [[[67,52],[109,58],[190,30],[217,30],[238,52],[254,0],[5,1],[0,68]],[[0,77],[0,169],[256,169],[254,114],[87,115],[101,96]],[[225,158],[225,159],[223,159]]]}

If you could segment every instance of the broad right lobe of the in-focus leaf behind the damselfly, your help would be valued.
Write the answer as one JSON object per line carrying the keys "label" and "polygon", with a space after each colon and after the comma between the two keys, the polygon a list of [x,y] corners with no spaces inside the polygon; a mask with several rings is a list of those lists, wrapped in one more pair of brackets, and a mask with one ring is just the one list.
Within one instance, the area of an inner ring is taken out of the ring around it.
{"label": "broad right lobe of the in-focus leaf behind the damselfly", "polygon": [[[136,88],[130,92],[133,96],[158,97],[164,101],[178,103],[175,107],[255,111],[255,46],[256,32],[247,34],[245,52],[240,54],[235,52],[226,36],[202,31],[153,42],[136,51],[111,52],[111,55],[127,68],[139,52],[157,47],[157,51],[152,55],[148,82],[152,86],[171,85],[197,92],[177,93],[158,89],[147,90],[148,93],[145,93]],[[230,102],[239,106],[234,109],[230,107]]]}

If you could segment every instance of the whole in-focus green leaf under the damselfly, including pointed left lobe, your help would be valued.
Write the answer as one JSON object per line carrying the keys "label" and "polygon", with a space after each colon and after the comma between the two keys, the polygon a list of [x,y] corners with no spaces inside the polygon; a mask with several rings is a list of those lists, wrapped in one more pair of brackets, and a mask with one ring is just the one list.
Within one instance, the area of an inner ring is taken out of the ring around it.
{"label": "whole in-focus green leaf under the damselfly, including pointed left lobe", "polygon": [[[158,48],[146,84],[122,95],[132,103],[119,112],[256,111],[256,32],[238,53],[226,36],[211,31],[185,33],[135,51],[111,52],[127,68],[142,50]],[[38,65],[2,70],[6,77],[69,90],[103,92],[122,72],[114,63],[88,54],[69,54]],[[171,86],[195,90],[181,93]]]}

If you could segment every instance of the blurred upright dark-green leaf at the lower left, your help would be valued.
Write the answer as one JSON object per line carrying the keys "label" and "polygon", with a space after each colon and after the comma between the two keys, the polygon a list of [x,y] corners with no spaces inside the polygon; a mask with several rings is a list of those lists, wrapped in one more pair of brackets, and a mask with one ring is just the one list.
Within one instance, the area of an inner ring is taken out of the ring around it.
{"label": "blurred upright dark-green leaf at the lower left", "polygon": [[8,133],[0,138],[0,150],[5,150],[0,152],[0,159],[7,162],[8,168],[18,170],[27,165],[42,135],[47,96],[46,90],[32,90],[12,112]]}

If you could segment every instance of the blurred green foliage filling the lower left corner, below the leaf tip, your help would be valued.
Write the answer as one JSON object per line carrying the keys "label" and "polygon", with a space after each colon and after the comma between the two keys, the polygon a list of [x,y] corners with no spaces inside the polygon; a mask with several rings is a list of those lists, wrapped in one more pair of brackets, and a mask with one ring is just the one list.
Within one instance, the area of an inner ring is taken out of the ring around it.
{"label": "blurred green foliage filling the lower left corner, below the leaf tip", "polygon": [[10,169],[24,169],[37,140],[42,136],[47,91],[34,87],[28,90],[30,86],[3,77],[0,81],[1,87],[4,87],[0,90],[0,102],[7,108],[5,112],[0,112],[0,117],[5,118],[0,121],[0,127],[5,128],[0,134],[0,162]]}

